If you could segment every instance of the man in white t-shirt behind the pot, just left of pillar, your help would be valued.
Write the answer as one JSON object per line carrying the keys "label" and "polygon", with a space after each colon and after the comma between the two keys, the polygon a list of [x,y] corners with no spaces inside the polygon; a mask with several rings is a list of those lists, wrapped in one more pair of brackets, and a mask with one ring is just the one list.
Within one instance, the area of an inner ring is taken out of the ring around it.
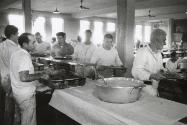
{"label": "man in white t-shirt behind the pot, just left of pillar", "polygon": [[111,34],[104,36],[103,45],[94,51],[91,63],[96,64],[97,70],[101,70],[105,77],[112,75],[107,67],[123,65],[116,48],[113,48],[113,36]]}

